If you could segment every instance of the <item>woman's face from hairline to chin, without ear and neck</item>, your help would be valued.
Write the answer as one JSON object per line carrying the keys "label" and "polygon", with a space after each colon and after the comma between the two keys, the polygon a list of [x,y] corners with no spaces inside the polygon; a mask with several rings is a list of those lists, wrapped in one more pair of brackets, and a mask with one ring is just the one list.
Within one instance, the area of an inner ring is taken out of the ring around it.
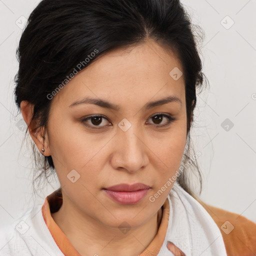
{"label": "woman's face from hairline to chin, without ear and neck", "polygon": [[[136,227],[156,214],[186,142],[185,85],[177,68],[171,52],[148,41],[101,56],[51,99],[45,154],[52,156],[66,208],[109,227]],[[166,97],[177,100],[150,104]],[[100,100],[108,103],[92,103]],[[105,189],[138,182],[150,188]]]}

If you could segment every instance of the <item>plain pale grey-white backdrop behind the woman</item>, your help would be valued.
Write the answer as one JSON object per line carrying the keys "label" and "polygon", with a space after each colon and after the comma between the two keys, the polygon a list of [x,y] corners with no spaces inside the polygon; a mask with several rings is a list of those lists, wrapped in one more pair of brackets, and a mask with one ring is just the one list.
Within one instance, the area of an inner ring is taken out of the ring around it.
{"label": "plain pale grey-white backdrop behind the woman", "polygon": [[[0,224],[59,187],[53,179],[33,196],[33,158],[26,143],[21,147],[24,129],[13,97],[15,50],[38,2],[0,0]],[[199,47],[209,87],[197,96],[191,130],[201,152],[200,198],[256,222],[256,0],[181,2],[205,33]]]}

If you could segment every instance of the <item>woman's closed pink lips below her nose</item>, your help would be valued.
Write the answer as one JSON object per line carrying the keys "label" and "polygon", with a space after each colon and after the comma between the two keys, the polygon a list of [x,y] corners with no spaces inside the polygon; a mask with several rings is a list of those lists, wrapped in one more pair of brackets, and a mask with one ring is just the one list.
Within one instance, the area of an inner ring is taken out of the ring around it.
{"label": "woman's closed pink lips below her nose", "polygon": [[135,204],[139,202],[148,192],[150,186],[143,183],[118,184],[104,188],[104,191],[114,201],[120,204]]}

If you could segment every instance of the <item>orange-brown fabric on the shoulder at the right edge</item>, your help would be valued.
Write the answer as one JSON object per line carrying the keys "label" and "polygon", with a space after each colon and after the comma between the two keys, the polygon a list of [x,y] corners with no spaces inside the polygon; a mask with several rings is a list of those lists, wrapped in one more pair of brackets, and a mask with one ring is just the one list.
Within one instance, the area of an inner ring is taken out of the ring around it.
{"label": "orange-brown fabric on the shoulder at the right edge", "polygon": [[196,200],[217,224],[223,237],[227,256],[256,254],[256,223],[246,217]]}

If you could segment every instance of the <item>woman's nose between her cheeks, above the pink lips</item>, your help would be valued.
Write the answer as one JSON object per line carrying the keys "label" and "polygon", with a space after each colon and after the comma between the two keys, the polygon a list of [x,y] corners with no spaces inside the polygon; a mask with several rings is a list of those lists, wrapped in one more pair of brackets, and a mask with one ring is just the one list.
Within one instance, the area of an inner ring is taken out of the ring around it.
{"label": "woman's nose between her cheeks, above the pink lips", "polygon": [[133,125],[126,131],[117,129],[111,155],[111,165],[114,169],[136,172],[148,164],[148,147],[141,134],[142,132]]}

